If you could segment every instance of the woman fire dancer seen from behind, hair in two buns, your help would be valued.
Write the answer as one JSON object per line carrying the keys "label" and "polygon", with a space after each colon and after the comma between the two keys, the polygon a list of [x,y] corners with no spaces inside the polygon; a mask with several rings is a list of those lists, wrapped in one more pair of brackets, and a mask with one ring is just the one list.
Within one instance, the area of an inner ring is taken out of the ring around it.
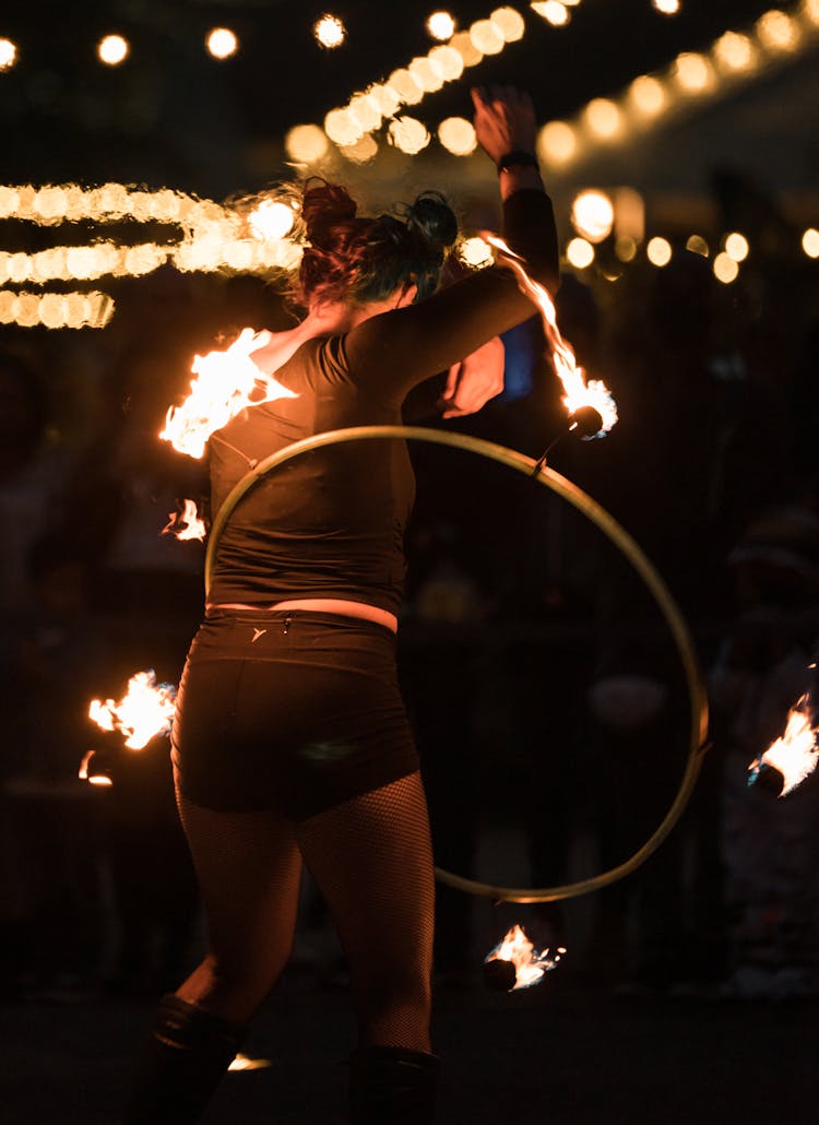
{"label": "woman fire dancer seen from behind, hair in two buns", "polygon": [[[504,237],[555,291],[532,104],[505,87],[474,90],[472,101],[498,169]],[[362,218],[343,188],[308,181],[303,217],[307,316],[253,354],[294,397],[213,435],[214,512],[255,461],[297,439],[398,424],[414,386],[457,371],[532,314],[497,267],[432,296],[457,235],[436,194],[400,218]],[[469,363],[462,371],[468,382]],[[462,406],[454,382],[451,412]],[[172,736],[209,948],[161,1001],[128,1125],[199,1120],[288,958],[303,862],[333,915],[356,1000],[351,1120],[432,1120],[433,862],[395,667],[413,490],[404,442],[358,441],[287,462],[228,521]]]}

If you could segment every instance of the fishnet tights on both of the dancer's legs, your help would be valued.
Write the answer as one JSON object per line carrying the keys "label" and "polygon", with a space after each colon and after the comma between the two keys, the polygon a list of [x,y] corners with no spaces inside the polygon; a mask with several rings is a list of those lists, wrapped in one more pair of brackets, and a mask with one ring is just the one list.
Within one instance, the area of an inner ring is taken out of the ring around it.
{"label": "fishnet tights on both of the dancer's legs", "polygon": [[430,1050],[434,883],[420,774],[298,822],[177,800],[209,932],[181,999],[250,1018],[290,954],[304,861],[344,948],[360,1043]]}

